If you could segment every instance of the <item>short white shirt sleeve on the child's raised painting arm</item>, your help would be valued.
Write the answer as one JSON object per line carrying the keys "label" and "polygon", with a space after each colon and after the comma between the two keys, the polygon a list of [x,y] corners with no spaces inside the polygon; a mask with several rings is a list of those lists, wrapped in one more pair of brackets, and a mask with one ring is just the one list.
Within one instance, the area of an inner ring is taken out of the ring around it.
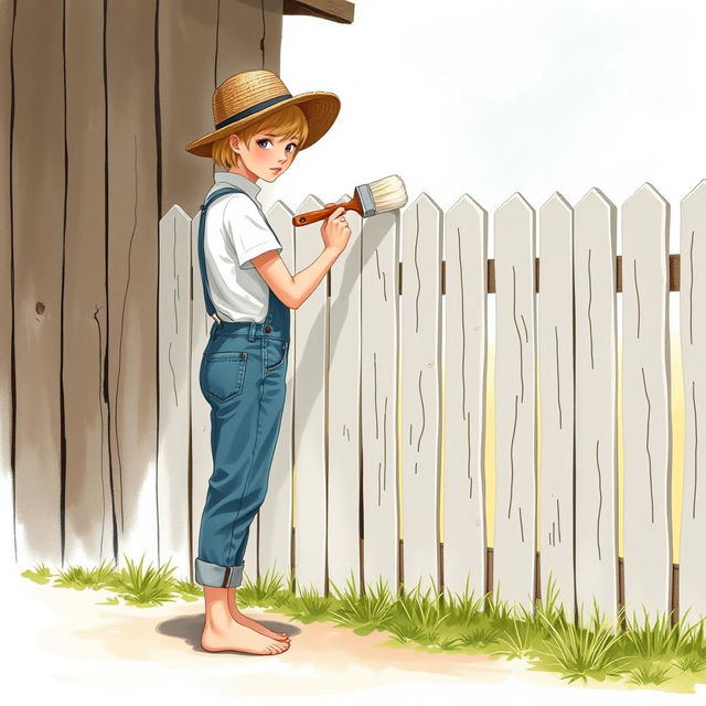
{"label": "short white shirt sleeve on the child's raised painting arm", "polygon": [[234,194],[223,211],[223,225],[229,237],[240,269],[254,269],[254,257],[268,250],[281,250],[275,234],[259,208],[246,194]]}

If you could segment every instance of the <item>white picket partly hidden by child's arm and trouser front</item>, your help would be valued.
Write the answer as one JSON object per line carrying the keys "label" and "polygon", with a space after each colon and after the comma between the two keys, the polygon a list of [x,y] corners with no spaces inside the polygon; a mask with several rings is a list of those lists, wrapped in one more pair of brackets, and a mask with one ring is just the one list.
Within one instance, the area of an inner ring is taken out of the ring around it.
{"label": "white picket partly hidden by child's arm and trouser front", "polygon": [[[295,227],[291,211],[278,201],[268,212],[267,220],[282,244],[280,253],[290,272],[295,272]],[[285,575],[290,578],[291,573],[291,526],[293,502],[292,478],[292,422],[295,399],[295,325],[293,311],[290,325],[290,342],[287,361],[287,396],[282,420],[269,471],[267,495],[257,514],[259,522],[259,564],[260,576],[268,573]],[[252,538],[252,535],[250,535]],[[250,542],[248,542],[248,545]]]}

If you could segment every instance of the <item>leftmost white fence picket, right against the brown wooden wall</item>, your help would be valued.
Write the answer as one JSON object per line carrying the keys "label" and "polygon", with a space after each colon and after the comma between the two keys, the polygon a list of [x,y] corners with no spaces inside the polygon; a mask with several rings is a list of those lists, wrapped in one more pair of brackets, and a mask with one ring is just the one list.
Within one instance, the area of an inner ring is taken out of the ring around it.
{"label": "leftmost white fence picket, right against the brown wooden wall", "polygon": [[159,224],[158,560],[191,574],[189,435],[191,427],[191,217],[172,206]]}

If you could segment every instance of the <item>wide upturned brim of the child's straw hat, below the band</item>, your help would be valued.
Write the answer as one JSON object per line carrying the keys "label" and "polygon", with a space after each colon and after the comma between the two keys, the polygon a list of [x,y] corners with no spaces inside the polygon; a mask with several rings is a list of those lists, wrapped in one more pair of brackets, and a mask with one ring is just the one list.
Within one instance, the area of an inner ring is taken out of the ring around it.
{"label": "wide upturned brim of the child's straw hat, below the band", "polygon": [[211,146],[216,140],[220,140],[227,135],[233,135],[238,130],[253,125],[261,120],[264,117],[277,113],[288,106],[299,106],[307,118],[309,124],[309,133],[303,145],[299,146],[299,150],[304,150],[311,147],[314,142],[320,140],[331,128],[335,121],[339,110],[341,109],[341,100],[333,93],[325,93],[322,90],[302,93],[298,96],[292,96],[287,100],[282,100],[269,108],[265,108],[247,118],[243,118],[232,125],[226,125],[220,130],[214,130],[204,135],[203,137],[190,142],[185,150],[196,157],[211,157]]}

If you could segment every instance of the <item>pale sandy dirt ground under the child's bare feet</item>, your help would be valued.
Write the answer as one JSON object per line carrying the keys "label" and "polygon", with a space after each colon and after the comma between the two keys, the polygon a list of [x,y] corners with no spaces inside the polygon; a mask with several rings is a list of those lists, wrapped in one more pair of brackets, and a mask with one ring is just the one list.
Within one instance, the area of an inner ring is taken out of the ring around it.
{"label": "pale sandy dirt ground under the child's bare feet", "polygon": [[[379,633],[360,637],[333,623],[304,624],[256,609],[245,612],[289,633],[291,648],[269,656],[214,654],[200,644],[203,601],[158,608],[100,605],[110,591],[60,589],[12,576],[3,588],[11,600],[2,621],[2,689],[24,698],[29,689],[51,697],[52,704],[81,704],[87,697],[125,704],[138,694],[140,704],[153,695],[184,704],[215,697],[228,704],[356,706],[361,698],[383,703],[399,697],[409,704],[468,702],[470,696],[484,703],[563,705],[567,697],[577,704],[600,696],[640,705],[685,698],[616,685],[569,687],[518,660],[382,646]],[[695,696],[700,702],[704,692]]]}

